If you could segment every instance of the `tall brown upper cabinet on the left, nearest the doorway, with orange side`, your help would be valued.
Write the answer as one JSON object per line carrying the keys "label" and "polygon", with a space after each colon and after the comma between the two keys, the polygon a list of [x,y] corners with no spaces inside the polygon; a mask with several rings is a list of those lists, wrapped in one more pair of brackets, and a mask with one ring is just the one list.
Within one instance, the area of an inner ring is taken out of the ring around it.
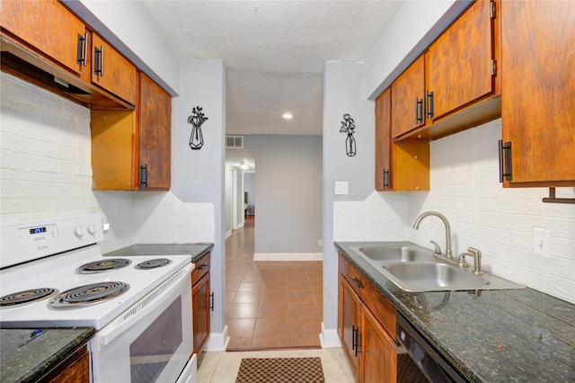
{"label": "tall brown upper cabinet on the left, nearest the doorway, with orange side", "polygon": [[172,97],[138,83],[136,111],[91,111],[93,190],[170,189]]}

